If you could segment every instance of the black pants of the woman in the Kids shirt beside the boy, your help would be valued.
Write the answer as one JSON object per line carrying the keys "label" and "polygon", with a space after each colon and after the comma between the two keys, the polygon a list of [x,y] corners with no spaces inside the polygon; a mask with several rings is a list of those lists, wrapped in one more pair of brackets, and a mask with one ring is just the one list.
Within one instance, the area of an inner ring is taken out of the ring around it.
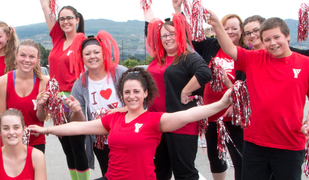
{"label": "black pants of the woman in the Kids shirt beside the boy", "polygon": [[[235,146],[229,142],[226,147],[231,155],[231,159],[234,165],[234,177],[235,180],[241,179],[242,170],[242,157],[243,152],[243,129],[239,126],[232,125],[231,121],[224,122],[226,129],[229,131],[229,135],[235,144]],[[222,164],[219,159],[219,153],[217,149],[218,145],[218,132],[217,122],[208,122],[208,128],[206,132],[206,144],[207,144],[207,155],[210,163],[210,171],[212,173],[223,173],[227,170],[226,161]]]}

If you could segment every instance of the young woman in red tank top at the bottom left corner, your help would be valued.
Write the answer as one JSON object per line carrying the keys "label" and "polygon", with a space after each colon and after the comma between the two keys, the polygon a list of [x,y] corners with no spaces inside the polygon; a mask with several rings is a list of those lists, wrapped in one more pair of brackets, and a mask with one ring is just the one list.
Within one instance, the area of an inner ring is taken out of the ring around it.
{"label": "young woman in red tank top at the bottom left corner", "polygon": [[0,134],[5,146],[0,147],[1,180],[44,180],[46,164],[44,153],[23,144],[25,123],[17,109],[0,115]]}

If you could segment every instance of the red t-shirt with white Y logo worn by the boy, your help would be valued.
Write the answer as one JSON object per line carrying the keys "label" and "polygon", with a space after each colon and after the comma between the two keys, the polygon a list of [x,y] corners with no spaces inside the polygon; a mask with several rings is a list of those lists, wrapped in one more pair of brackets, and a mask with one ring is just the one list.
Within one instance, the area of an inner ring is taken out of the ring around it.
{"label": "red t-shirt with white Y logo worn by the boy", "polygon": [[271,148],[304,149],[300,128],[309,95],[309,57],[293,52],[278,59],[265,49],[237,47],[237,69],[247,75],[252,111],[244,140]]}

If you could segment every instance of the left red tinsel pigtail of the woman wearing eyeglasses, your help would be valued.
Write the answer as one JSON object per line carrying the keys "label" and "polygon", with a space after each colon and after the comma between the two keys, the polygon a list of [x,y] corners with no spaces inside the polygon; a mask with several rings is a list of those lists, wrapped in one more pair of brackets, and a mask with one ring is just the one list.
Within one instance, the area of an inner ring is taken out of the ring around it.
{"label": "left red tinsel pigtail of the woman wearing eyeglasses", "polygon": [[163,25],[161,19],[151,19],[147,28],[146,49],[151,57],[155,57],[160,65],[163,65],[161,59],[164,57],[164,48],[160,39],[160,29]]}

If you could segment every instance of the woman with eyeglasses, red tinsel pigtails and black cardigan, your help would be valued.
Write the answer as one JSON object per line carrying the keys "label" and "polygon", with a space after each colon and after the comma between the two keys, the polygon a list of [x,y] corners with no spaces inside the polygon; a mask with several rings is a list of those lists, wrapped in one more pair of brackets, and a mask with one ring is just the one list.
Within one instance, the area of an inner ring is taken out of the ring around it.
{"label": "woman with eyeglasses, red tinsel pigtails and black cardigan", "polygon": [[[155,57],[147,71],[157,83],[159,96],[147,109],[173,113],[195,107],[197,101],[188,96],[202,95],[211,71],[201,57],[188,50],[186,33],[190,33],[184,28],[188,24],[182,14],[176,13],[165,23],[153,17],[151,10],[145,14],[145,21],[149,21],[146,48]],[[197,139],[197,122],[163,133],[154,158],[156,178],[170,179],[173,173],[176,180],[198,179],[194,165]]]}

